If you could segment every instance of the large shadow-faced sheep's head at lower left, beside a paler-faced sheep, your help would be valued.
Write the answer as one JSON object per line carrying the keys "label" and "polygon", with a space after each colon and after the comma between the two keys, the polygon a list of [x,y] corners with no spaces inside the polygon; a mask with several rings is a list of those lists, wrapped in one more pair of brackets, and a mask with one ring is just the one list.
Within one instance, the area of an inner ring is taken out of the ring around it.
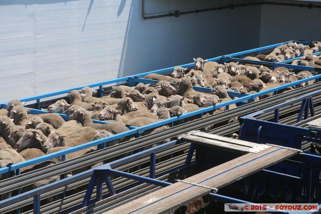
{"label": "large shadow-faced sheep's head at lower left, beside a paler-faced sheep", "polygon": [[37,148],[42,149],[42,145],[47,140],[47,137],[39,130],[27,129],[23,133],[22,138],[16,143],[16,149]]}

